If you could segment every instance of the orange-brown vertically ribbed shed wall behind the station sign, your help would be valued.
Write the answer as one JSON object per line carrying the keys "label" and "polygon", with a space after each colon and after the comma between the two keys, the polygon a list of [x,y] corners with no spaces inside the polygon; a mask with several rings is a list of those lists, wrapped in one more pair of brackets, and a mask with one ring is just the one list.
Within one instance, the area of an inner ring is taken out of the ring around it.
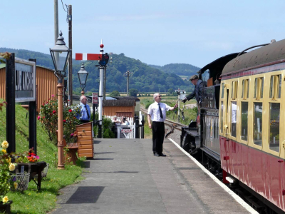
{"label": "orange-brown vertically ribbed shed wall behind the station sign", "polygon": [[[53,94],[56,96],[58,79],[54,71],[41,66],[36,66],[36,111],[40,111],[41,104],[48,101]],[[0,68],[0,98],[6,99],[6,68]]]}

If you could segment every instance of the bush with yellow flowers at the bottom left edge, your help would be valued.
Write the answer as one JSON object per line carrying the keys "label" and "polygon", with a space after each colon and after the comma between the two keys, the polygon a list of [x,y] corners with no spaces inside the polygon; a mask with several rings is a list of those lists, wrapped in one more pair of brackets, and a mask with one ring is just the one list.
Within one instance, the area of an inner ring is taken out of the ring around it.
{"label": "bush with yellow flowers at the bottom left edge", "polygon": [[6,148],[9,147],[7,141],[1,143],[0,148],[0,203],[7,203],[9,198],[6,196],[6,193],[9,192],[11,186],[16,188],[14,182],[11,180],[10,172],[15,170],[15,163],[11,163],[11,157],[6,152]]}

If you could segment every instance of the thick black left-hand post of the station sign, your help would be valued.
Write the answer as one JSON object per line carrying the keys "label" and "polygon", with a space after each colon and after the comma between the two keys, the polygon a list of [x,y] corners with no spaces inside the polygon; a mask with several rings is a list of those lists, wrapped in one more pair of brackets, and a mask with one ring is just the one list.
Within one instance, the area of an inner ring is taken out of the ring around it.
{"label": "thick black left-hand post of the station sign", "polygon": [[16,152],[15,133],[15,54],[6,60],[6,141],[9,143],[7,153]]}

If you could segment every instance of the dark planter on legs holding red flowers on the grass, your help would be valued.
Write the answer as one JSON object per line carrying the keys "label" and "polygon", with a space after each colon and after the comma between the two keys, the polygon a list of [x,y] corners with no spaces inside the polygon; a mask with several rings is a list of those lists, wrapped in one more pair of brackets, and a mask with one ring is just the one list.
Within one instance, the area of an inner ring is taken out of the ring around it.
{"label": "dark planter on legs holding red flowers on the grass", "polygon": [[38,190],[41,190],[41,172],[46,167],[46,162],[41,161],[37,163],[17,163],[16,173],[21,173],[22,166],[24,166],[25,173],[30,173],[30,178],[28,181],[33,180],[38,186]]}

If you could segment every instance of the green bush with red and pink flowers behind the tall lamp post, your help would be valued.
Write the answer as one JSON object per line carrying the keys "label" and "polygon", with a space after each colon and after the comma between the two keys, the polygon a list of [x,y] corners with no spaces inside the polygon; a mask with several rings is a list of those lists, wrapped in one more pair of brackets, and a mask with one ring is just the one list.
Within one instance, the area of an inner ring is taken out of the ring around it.
{"label": "green bush with red and pink flowers behind the tall lamp post", "polygon": [[[63,135],[65,135],[66,142],[71,141],[71,133],[76,131],[76,125],[80,124],[80,121],[76,118],[80,111],[79,106],[63,106]],[[42,103],[38,120],[41,121],[51,141],[57,144],[58,100],[54,95],[47,102]]]}

